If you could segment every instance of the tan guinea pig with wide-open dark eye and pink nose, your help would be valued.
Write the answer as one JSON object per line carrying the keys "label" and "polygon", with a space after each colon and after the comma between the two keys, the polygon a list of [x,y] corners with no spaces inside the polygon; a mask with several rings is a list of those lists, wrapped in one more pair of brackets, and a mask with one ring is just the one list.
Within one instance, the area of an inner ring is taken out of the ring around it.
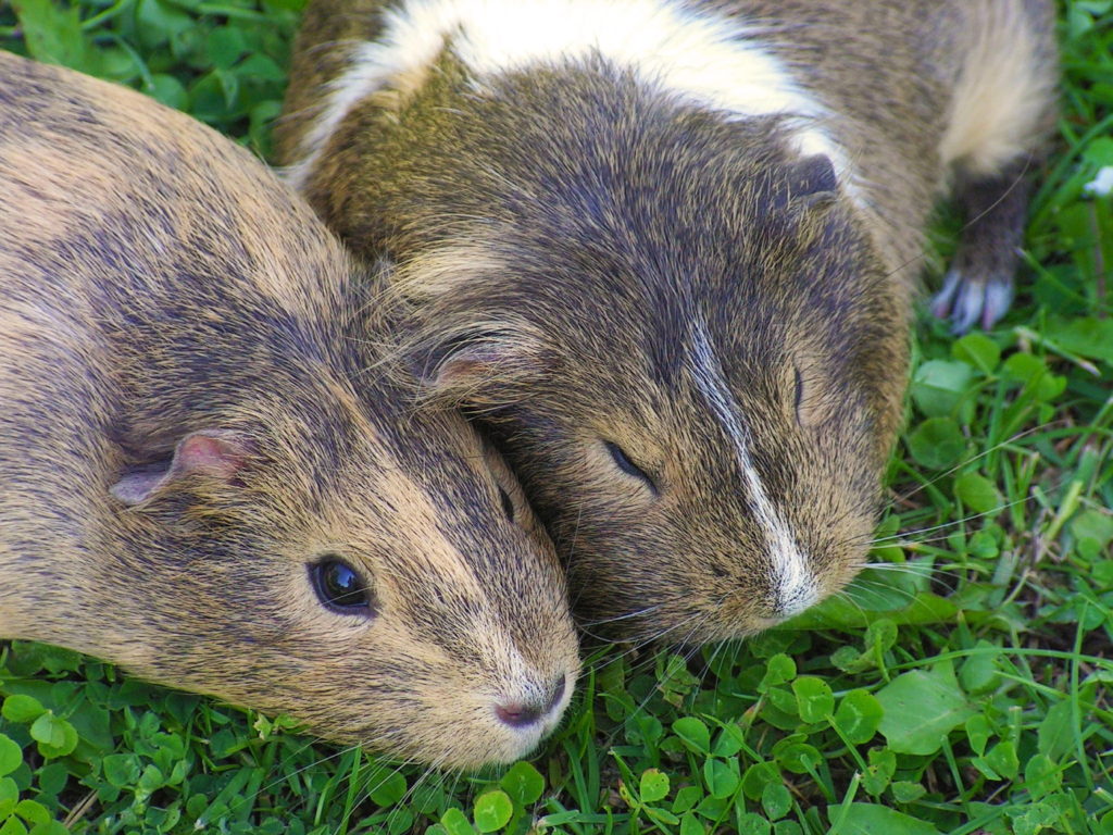
{"label": "tan guinea pig with wide-open dark eye and pink nose", "polygon": [[262,163],[0,52],[0,636],[446,767],[530,752],[579,667],[560,562]]}

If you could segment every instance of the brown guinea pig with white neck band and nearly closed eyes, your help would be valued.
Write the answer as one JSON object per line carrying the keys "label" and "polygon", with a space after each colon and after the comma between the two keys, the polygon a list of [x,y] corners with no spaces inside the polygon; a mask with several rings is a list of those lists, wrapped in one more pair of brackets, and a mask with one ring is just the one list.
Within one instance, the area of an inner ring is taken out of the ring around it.
{"label": "brown guinea pig with white neck band and nearly closed eyes", "polygon": [[494,439],[584,625],[754,633],[863,566],[915,265],[1009,298],[1046,0],[311,0],[286,177],[394,265],[430,400]]}

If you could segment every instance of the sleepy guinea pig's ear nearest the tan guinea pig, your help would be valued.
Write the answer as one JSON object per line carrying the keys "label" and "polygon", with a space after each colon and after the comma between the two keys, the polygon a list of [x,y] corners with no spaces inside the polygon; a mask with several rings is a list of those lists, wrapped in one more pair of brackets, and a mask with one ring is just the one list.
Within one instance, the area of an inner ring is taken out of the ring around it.
{"label": "sleepy guinea pig's ear nearest the tan guinea pig", "polygon": [[519,331],[483,330],[457,335],[430,353],[418,376],[426,393],[456,403],[500,400],[505,389],[536,376],[540,345]]}

